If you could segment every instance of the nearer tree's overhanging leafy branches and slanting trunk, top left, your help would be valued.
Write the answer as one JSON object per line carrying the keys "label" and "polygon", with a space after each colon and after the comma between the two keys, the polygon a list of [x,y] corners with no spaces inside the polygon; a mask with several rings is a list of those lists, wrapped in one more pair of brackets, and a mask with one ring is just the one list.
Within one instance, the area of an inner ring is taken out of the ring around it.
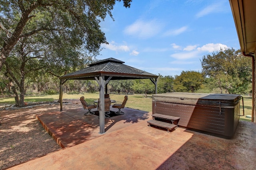
{"label": "nearer tree's overhanging leafy branches and slanting trunk, top left", "polygon": [[[130,7],[132,0],[122,1],[125,7]],[[0,70],[17,42],[35,34],[44,35],[45,39],[38,41],[68,39],[71,47],[84,45],[86,51],[98,53],[100,44],[107,43],[99,23],[107,14],[112,17],[115,2],[0,0]]]}

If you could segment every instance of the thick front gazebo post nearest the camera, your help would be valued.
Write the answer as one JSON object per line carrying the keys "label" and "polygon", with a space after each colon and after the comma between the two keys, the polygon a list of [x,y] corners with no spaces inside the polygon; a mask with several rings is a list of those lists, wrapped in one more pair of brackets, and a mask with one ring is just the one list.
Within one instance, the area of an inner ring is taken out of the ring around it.
{"label": "thick front gazebo post nearest the camera", "polygon": [[99,114],[100,114],[100,134],[105,133],[105,105],[104,105],[104,80],[105,76],[99,77],[100,82],[100,106],[99,106]]}

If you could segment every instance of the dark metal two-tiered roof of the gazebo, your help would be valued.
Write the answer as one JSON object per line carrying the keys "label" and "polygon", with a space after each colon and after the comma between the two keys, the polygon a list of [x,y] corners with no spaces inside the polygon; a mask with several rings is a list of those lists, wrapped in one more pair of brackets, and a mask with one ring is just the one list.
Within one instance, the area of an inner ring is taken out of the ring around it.
{"label": "dark metal two-tiered roof of the gazebo", "polygon": [[108,58],[88,64],[89,66],[64,76],[59,79],[95,80],[95,77],[112,76],[111,80],[158,78],[157,75],[123,64],[123,61]]}

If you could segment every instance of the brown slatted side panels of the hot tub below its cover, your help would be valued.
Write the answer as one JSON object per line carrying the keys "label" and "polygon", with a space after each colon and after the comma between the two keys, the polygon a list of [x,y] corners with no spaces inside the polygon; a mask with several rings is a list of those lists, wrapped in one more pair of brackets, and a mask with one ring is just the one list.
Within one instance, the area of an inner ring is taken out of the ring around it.
{"label": "brown slatted side panels of the hot tub below its cover", "polygon": [[178,125],[187,129],[231,138],[239,121],[240,104],[221,107],[220,113],[220,107],[153,101],[152,112],[180,117]]}

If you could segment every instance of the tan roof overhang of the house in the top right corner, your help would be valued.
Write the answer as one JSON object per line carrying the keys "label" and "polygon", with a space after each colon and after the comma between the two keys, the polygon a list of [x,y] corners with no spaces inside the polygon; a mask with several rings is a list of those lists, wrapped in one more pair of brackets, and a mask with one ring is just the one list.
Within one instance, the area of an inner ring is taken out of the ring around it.
{"label": "tan roof overhang of the house in the top right corner", "polygon": [[252,55],[256,50],[256,1],[229,0],[242,53]]}

